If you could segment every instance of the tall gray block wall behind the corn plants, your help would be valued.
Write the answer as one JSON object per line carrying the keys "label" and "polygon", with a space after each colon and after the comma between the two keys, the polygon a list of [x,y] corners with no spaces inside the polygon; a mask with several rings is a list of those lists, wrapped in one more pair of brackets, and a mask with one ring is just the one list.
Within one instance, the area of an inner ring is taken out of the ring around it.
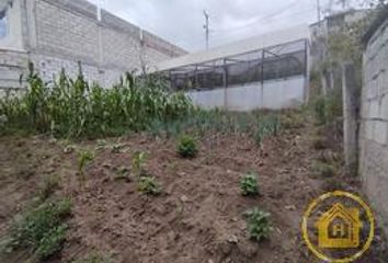
{"label": "tall gray block wall behind the corn plants", "polygon": [[21,10],[23,47],[1,49],[0,43],[0,89],[21,87],[19,76],[26,71],[28,59],[47,81],[61,68],[77,75],[81,61],[89,81],[109,87],[125,71],[185,54],[104,10],[99,21],[96,7],[85,0],[15,0],[14,4]]}

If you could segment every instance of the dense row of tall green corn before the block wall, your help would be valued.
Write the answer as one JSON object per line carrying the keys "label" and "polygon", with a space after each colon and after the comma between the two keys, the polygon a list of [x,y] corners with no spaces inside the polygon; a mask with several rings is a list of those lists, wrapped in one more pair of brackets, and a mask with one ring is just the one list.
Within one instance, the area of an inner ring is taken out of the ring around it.
{"label": "dense row of tall green corn before the block wall", "polygon": [[2,132],[15,129],[49,133],[56,138],[95,138],[145,130],[155,121],[169,122],[186,116],[191,101],[170,93],[158,75],[127,73],[111,89],[90,85],[79,65],[77,78],[62,70],[53,83],[45,83],[30,64],[26,93],[0,100]]}

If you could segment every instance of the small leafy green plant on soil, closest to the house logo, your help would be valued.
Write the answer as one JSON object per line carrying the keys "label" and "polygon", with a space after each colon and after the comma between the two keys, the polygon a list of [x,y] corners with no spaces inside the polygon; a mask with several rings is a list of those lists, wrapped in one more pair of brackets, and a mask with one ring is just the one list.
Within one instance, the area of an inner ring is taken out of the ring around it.
{"label": "small leafy green plant on soil, closest to the house logo", "polygon": [[249,237],[258,242],[270,238],[273,230],[270,214],[259,208],[253,208],[244,213],[248,224]]}

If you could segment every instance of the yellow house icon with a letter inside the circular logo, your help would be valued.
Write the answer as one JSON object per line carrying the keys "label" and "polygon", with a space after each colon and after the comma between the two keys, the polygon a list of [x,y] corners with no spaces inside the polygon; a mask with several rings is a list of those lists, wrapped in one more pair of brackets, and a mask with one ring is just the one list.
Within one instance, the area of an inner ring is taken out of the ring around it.
{"label": "yellow house icon with a letter inside the circular logo", "polygon": [[338,203],[319,218],[316,227],[319,248],[355,249],[360,245],[363,224],[357,208],[345,208]]}

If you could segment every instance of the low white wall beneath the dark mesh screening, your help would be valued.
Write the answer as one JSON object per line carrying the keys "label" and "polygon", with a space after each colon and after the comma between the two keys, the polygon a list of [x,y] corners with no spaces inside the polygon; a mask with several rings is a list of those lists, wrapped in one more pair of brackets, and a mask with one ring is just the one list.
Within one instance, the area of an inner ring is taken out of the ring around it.
{"label": "low white wall beneath the dark mesh screening", "polygon": [[191,91],[186,95],[195,105],[205,108],[226,107],[229,111],[252,111],[256,108],[289,108],[305,101],[305,77],[249,83],[246,85]]}

